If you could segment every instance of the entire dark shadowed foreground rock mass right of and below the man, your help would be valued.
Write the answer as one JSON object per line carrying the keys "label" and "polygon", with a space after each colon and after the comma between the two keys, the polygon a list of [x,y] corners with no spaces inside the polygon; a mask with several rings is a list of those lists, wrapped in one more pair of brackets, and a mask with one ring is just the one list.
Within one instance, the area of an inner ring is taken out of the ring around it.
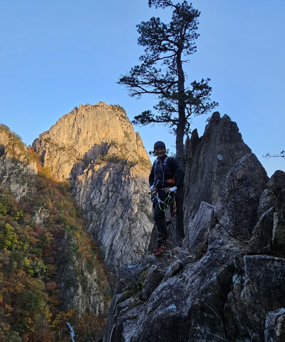
{"label": "entire dark shadowed foreground rock mass right of and below the man", "polygon": [[117,291],[104,341],[283,341],[285,173],[269,180],[218,113],[185,153],[182,249],[137,264],[142,289]]}

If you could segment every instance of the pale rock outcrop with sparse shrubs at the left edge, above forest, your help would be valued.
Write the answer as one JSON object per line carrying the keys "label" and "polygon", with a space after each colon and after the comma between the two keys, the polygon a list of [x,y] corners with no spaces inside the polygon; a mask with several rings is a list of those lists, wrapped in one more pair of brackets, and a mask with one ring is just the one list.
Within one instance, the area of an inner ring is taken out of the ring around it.
{"label": "pale rock outcrop with sparse shrubs at the left edge, above forest", "polygon": [[0,124],[0,186],[10,190],[18,202],[36,174],[36,162],[21,138]]}

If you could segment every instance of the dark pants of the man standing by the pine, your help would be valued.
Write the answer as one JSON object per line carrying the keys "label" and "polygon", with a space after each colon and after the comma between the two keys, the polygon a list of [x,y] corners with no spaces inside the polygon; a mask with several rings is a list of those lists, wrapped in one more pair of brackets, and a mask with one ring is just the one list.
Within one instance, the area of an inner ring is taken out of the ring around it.
{"label": "dark pants of the man standing by the pine", "polygon": [[[165,193],[165,190],[158,189],[158,197],[161,201],[165,202],[165,200],[168,197],[168,194]],[[160,208],[159,208],[160,206]],[[162,209],[162,210],[161,210]],[[156,223],[156,229],[157,229],[157,245],[159,247],[164,245],[164,241],[167,239],[167,229],[164,222],[164,211],[166,209],[166,206],[162,203],[159,203],[158,201],[154,202],[153,206],[153,219]]]}

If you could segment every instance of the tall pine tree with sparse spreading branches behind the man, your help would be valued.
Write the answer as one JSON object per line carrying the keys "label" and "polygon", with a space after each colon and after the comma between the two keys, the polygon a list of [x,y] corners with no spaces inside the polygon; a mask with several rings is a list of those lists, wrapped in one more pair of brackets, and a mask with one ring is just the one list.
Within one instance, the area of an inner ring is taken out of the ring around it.
{"label": "tall pine tree with sparse spreading branches behind the man", "polygon": [[[210,99],[209,78],[185,84],[183,65],[189,62],[188,56],[196,52],[200,12],[187,1],[173,4],[171,0],[148,0],[148,5],[156,9],[170,8],[171,21],[165,24],[160,18],[152,17],[137,25],[138,44],[145,48],[144,54],[139,57],[139,65],[120,75],[118,83],[127,88],[131,97],[152,94],[159,100],[154,106],[156,114],[145,110],[132,122],[142,126],[160,123],[169,127],[176,135],[176,158],[183,166],[183,139],[190,133],[191,116],[206,114],[218,105]],[[184,238],[183,189],[178,190],[176,202],[176,237]]]}

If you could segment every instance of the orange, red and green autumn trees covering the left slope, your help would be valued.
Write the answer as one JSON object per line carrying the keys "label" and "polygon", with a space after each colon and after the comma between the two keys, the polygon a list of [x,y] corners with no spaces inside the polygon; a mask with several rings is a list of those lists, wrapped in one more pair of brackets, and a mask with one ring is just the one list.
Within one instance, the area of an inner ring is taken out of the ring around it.
{"label": "orange, red and green autumn trees covering the left slope", "polygon": [[[39,159],[34,152],[27,153]],[[110,301],[107,276],[97,248],[83,230],[81,209],[69,183],[53,180],[50,170],[40,164],[38,171],[33,191],[19,202],[0,186],[0,342],[71,341],[65,332],[71,318],[70,323],[76,324],[75,341],[93,341],[102,334],[104,317],[61,312],[56,281],[63,263],[73,267],[78,277],[83,266],[95,269],[103,299]],[[44,213],[41,225],[36,223],[36,213]],[[63,252],[65,235],[69,248]]]}

